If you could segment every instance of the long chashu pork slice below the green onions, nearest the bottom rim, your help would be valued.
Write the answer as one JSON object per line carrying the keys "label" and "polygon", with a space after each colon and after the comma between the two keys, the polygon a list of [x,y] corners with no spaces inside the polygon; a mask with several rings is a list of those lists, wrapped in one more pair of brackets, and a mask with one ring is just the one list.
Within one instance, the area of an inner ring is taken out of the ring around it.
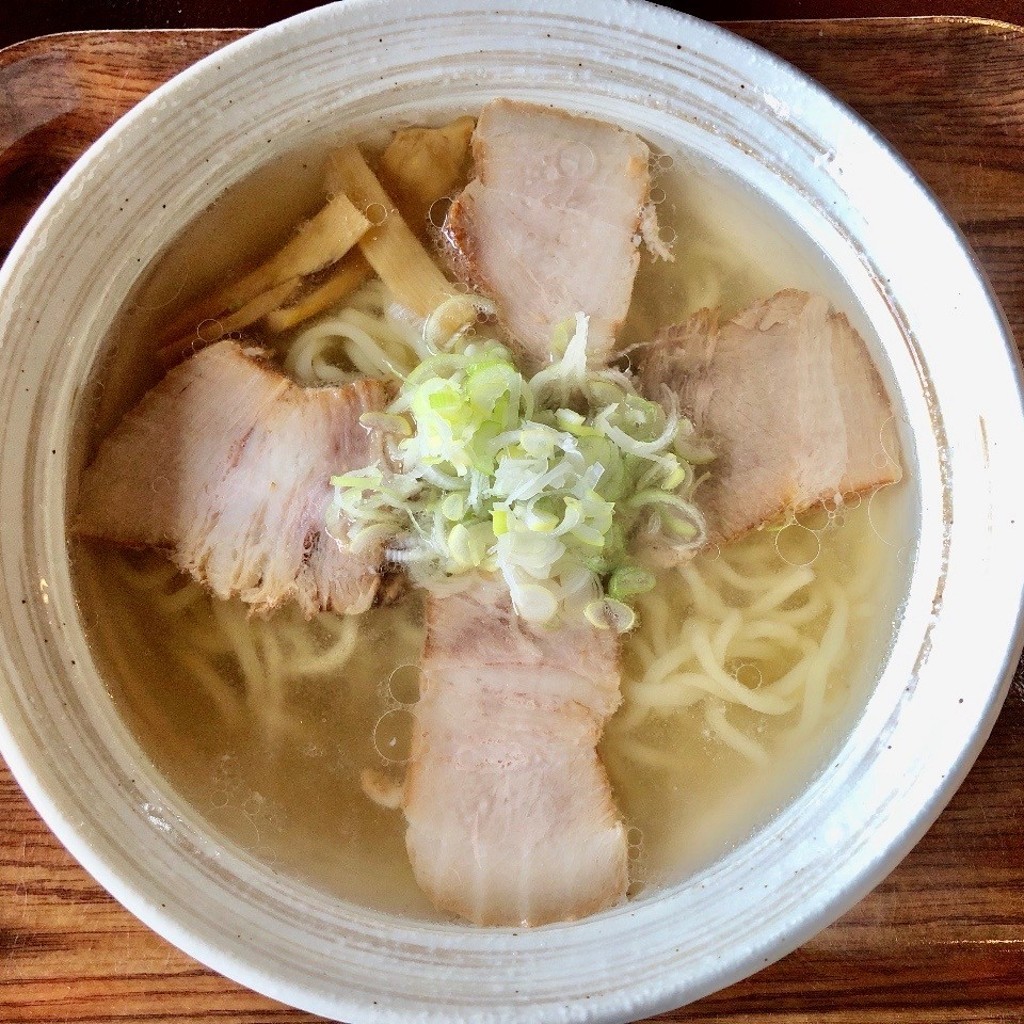
{"label": "long chashu pork slice below the green onions, nearest the bottom rim", "polygon": [[427,606],[403,808],[417,882],[477,925],[568,921],[625,898],[626,833],[596,745],[617,640],[531,628],[500,583]]}

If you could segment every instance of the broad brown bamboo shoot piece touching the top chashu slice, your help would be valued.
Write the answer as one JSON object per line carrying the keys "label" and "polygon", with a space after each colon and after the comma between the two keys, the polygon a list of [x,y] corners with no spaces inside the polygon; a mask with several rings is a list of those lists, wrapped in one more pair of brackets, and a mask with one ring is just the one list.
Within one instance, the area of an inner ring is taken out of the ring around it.
{"label": "broad brown bamboo shoot piece touching the top chashu slice", "polygon": [[426,237],[430,208],[469,177],[476,121],[459,118],[443,128],[402,128],[381,154],[380,177],[406,223]]}

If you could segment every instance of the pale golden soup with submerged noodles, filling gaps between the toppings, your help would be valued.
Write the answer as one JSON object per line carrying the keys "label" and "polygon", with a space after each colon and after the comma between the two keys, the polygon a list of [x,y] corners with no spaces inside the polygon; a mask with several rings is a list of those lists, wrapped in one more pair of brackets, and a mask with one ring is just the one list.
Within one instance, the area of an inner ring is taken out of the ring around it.
{"label": "pale golden soup with submerged noodles, filling gaps between the toppings", "polygon": [[[849,305],[820,254],[757,197],[685,154],[652,167],[677,259],[641,262],[620,338],[627,352],[701,307],[730,315],[779,288]],[[323,181],[322,151],[294,154],[218,200],[164,254],[97,371],[83,424],[92,446],[159,378],[162,326],[279,247],[323,204]],[[377,281],[341,306],[396,344],[418,330]],[[248,336],[272,344],[305,383],[324,383],[344,365],[337,318],[336,309],[318,327]],[[826,763],[892,632],[908,562],[902,490],[829,502],[713,546],[659,570],[636,599],[623,702],[600,749],[629,826],[632,896],[714,861]],[[401,813],[370,799],[400,781],[410,757],[422,595],[357,616],[306,620],[285,606],[250,617],[158,554],[74,543],[96,657],[169,783],[275,869],[358,903],[436,915],[411,869]]]}

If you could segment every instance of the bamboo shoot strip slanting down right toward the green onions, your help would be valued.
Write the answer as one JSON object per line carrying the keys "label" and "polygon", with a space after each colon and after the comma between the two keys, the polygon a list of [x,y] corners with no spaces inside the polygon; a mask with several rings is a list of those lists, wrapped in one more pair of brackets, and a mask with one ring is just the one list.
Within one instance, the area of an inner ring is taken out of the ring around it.
{"label": "bamboo shoot strip slanting down right toward the green onions", "polygon": [[359,249],[407,309],[427,316],[456,294],[354,145],[335,150],[328,158],[327,183],[329,190],[345,193],[360,209],[380,212],[379,222],[359,239]]}

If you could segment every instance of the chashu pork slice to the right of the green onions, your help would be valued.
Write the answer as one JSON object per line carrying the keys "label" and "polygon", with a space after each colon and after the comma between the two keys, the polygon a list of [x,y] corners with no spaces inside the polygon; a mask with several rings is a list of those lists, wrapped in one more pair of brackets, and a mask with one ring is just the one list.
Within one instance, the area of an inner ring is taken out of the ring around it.
{"label": "chashu pork slice to the right of the green onions", "polygon": [[718,453],[697,493],[712,542],[900,478],[882,380],[819,295],[782,291],[721,325],[703,309],[658,335],[641,379],[675,392]]}

